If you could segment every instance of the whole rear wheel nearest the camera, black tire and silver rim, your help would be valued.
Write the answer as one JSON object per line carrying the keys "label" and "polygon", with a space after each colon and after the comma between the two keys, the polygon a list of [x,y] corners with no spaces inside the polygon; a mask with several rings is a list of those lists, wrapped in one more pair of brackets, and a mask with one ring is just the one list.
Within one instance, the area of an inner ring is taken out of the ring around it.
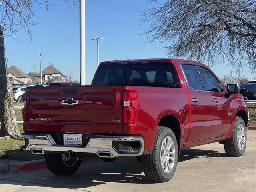
{"label": "whole rear wheel nearest the camera, black tire and silver rim", "polygon": [[174,132],[158,127],[153,152],[141,156],[145,176],[154,182],[169,181],[178,163],[178,144]]}

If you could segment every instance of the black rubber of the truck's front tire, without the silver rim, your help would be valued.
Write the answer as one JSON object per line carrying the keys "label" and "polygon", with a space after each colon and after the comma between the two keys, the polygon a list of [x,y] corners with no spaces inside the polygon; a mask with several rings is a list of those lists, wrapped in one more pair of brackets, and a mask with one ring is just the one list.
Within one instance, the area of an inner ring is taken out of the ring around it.
{"label": "black rubber of the truck's front tire, without the silver rim", "polygon": [[[238,127],[239,125],[242,124],[242,126],[244,127],[244,147],[242,148],[242,150],[240,149],[241,146],[238,146]],[[246,129],[246,125],[244,123],[244,120],[241,117],[236,117],[236,122],[235,122],[235,126],[234,126],[234,130],[232,133],[232,144],[224,144],[224,149],[225,152],[228,156],[232,156],[232,157],[239,157],[242,156],[245,152],[246,149],[246,141],[247,141],[247,133],[246,133],[247,129]]]}

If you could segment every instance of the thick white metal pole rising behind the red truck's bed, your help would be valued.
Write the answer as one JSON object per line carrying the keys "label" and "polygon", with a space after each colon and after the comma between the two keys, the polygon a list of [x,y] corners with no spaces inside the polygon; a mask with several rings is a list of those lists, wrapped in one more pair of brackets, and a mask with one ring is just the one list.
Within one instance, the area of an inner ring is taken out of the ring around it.
{"label": "thick white metal pole rising behind the red truck's bed", "polygon": [[80,85],[85,85],[85,1],[80,0]]}

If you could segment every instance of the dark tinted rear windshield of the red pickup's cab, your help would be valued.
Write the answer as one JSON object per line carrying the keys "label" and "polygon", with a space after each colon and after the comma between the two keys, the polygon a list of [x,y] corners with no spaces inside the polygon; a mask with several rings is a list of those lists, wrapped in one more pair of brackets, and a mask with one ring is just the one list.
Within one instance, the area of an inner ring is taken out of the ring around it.
{"label": "dark tinted rear windshield of the red pickup's cab", "polygon": [[101,66],[97,86],[129,85],[178,88],[178,78],[173,64],[140,64]]}

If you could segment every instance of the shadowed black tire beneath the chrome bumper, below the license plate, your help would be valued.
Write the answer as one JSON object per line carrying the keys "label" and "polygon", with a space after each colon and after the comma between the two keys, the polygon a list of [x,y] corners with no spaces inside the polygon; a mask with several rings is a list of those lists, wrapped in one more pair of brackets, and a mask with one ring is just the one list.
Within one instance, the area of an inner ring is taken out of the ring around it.
{"label": "shadowed black tire beneath the chrome bumper, below the license plate", "polygon": [[50,172],[56,175],[72,175],[78,170],[82,162],[81,158],[64,160],[60,153],[46,153],[44,159]]}

